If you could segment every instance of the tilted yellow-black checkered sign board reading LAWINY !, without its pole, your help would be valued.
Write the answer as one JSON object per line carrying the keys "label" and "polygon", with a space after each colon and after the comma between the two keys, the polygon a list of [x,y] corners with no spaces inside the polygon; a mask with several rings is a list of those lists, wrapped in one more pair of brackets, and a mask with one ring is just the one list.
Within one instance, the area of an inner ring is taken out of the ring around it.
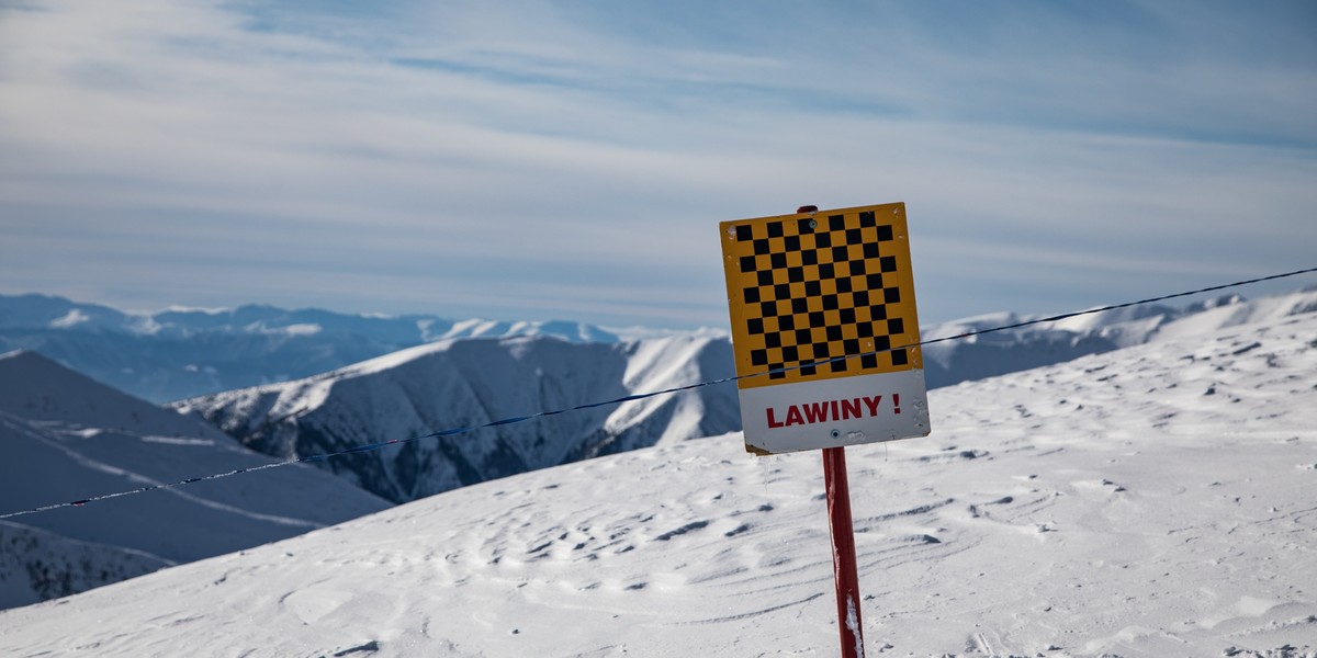
{"label": "tilted yellow-black checkered sign board reading LAWINY !, without its pole", "polygon": [[745,449],[930,432],[905,204],[719,224]]}

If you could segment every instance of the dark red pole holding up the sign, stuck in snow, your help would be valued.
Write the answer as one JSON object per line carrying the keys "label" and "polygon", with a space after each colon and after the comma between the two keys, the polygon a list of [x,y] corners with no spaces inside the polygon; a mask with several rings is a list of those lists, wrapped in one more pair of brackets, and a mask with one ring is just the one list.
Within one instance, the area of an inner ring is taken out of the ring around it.
{"label": "dark red pole holding up the sign, stuck in snow", "polygon": [[823,449],[823,487],[827,488],[827,520],[832,529],[832,578],[836,582],[836,625],[842,636],[842,658],[864,658],[860,574],[855,566],[855,528],[851,525],[846,447]]}

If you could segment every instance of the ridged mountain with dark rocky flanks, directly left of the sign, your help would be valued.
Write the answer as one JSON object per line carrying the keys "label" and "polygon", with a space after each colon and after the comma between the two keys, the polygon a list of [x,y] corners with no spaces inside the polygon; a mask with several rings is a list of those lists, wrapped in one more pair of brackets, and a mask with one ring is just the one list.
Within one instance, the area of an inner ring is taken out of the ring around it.
{"label": "ridged mountain with dark rocky flanks, directly left of the sign", "polygon": [[[547,337],[440,341],[325,375],[175,403],[242,443],[283,458],[470,428],[731,375],[726,340],[624,343]],[[394,501],[740,426],[734,387],[599,407],[317,462]]]}

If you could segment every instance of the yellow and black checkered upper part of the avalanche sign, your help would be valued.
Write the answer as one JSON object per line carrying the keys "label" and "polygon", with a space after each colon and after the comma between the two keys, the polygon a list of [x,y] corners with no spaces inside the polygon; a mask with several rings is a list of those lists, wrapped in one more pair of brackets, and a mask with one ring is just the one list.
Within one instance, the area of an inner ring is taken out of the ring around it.
{"label": "yellow and black checkered upper part of the avalanche sign", "polygon": [[[741,388],[922,368],[905,204],[719,225]],[[890,350],[885,351],[884,350]],[[836,357],[878,351],[852,359]]]}

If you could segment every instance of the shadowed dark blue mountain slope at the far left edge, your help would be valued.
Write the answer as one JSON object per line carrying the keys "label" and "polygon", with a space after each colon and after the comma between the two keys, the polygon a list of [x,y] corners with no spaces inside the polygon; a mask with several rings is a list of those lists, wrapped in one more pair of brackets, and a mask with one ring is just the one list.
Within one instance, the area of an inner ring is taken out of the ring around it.
{"label": "shadowed dark blue mountain slope at the far left edge", "polygon": [[[0,513],[270,463],[224,433],[34,353],[0,355]],[[219,555],[389,504],[307,467],[154,491],[0,525],[0,605]]]}

